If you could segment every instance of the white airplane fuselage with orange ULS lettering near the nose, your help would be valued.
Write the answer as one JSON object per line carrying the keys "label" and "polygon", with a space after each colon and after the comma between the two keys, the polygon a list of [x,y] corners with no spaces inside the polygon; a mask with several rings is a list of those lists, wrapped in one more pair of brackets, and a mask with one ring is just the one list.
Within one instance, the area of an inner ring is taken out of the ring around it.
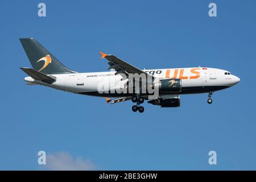
{"label": "white airplane fuselage with orange ULS lettering near the nose", "polygon": [[[145,69],[143,71],[160,79],[180,78],[182,81],[182,92],[179,94],[205,93],[221,90],[233,86],[240,81],[240,78],[230,74],[228,71],[216,68]],[[45,82],[34,80],[31,77],[26,77],[25,81],[46,85],[67,92],[102,97],[106,96],[105,94],[98,93],[98,86],[102,83],[110,85],[106,87],[108,90],[122,89],[123,85],[122,76],[115,75],[115,72],[112,71],[49,76],[56,77],[56,81],[52,84],[46,84]],[[108,94],[108,96],[119,97],[118,94]]]}

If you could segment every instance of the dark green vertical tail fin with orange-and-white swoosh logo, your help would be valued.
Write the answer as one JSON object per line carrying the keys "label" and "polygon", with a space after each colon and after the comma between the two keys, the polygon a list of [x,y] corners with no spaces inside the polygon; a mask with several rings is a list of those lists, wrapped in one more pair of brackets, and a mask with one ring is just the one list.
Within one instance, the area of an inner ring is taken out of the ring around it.
{"label": "dark green vertical tail fin with orange-and-white swoosh logo", "polygon": [[41,73],[63,74],[76,73],[65,67],[59,60],[56,59],[46,48],[44,48],[36,39],[24,38],[19,39],[27,54],[32,67]]}

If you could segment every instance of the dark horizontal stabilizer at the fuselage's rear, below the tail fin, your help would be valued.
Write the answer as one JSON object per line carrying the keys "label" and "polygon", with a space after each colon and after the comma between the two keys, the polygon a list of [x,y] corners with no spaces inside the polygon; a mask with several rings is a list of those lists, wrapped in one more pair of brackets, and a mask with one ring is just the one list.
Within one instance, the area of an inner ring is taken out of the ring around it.
{"label": "dark horizontal stabilizer at the fuselage's rear, below the tail fin", "polygon": [[35,69],[32,68],[20,68],[23,72],[27,73],[28,76],[32,77],[34,80],[40,80],[43,82],[46,82],[47,84],[52,84],[56,81],[55,78],[51,76],[47,76],[44,73],[35,71]]}

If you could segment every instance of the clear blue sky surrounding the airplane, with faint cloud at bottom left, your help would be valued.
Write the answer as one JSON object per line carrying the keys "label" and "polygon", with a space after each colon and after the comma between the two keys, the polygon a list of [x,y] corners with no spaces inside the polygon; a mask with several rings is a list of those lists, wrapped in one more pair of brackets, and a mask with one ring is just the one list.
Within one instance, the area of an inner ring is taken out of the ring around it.
{"label": "clear blue sky surrounding the airplane, with faint cloud at bottom left", "polygon": [[[256,169],[256,1],[42,1],[45,18],[39,2],[0,3],[0,169]],[[194,94],[133,113],[132,102],[26,85],[18,38],[28,37],[78,72],[106,71],[103,51],[141,69],[226,69],[241,82],[212,105]]]}

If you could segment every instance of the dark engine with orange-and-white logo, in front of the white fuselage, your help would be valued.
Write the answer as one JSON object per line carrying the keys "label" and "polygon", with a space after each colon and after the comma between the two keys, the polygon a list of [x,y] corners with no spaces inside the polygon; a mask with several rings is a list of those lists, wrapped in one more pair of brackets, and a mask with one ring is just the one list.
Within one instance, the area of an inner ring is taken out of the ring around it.
{"label": "dark engine with orange-and-white logo, in front of the white fuselage", "polygon": [[165,79],[152,84],[154,89],[160,92],[178,93],[181,92],[181,80],[179,78]]}

